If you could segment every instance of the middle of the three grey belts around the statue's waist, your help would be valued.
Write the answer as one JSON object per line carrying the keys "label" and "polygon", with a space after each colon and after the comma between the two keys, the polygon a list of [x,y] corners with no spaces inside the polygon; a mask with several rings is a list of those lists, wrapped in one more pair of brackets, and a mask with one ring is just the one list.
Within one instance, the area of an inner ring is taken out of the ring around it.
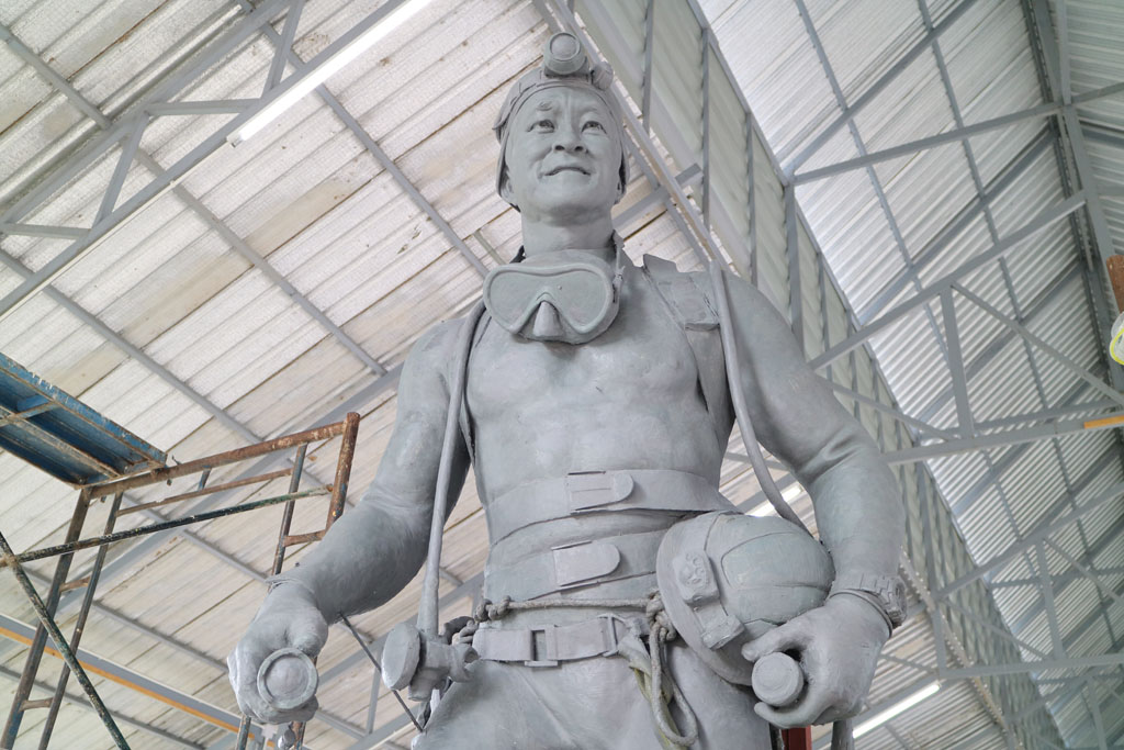
{"label": "middle of the three grey belts around the statue's waist", "polygon": [[655,572],[655,553],[665,531],[555,546],[517,563],[489,568],[488,588],[516,600],[578,586]]}

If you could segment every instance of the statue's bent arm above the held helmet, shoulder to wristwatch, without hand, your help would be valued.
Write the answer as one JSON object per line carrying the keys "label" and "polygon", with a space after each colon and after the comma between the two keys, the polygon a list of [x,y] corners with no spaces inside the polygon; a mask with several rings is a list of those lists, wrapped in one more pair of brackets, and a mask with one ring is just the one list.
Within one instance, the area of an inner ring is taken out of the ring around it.
{"label": "statue's bent arm above the held helmet, shoulder to wristwatch, without hand", "polygon": [[726,287],[753,428],[812,496],[836,576],[897,575],[905,510],[894,473],[769,300],[736,277]]}

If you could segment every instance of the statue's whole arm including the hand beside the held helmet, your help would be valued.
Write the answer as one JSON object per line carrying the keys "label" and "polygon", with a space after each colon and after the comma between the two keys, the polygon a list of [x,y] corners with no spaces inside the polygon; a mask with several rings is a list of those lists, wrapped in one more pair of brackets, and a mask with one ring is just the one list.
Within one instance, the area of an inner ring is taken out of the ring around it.
{"label": "statue's whole arm including the hand beside the held helmet", "polygon": [[[808,490],[835,580],[892,579],[905,534],[897,480],[870,435],[805,362],[786,322],[743,280],[726,275],[741,387],[758,440]],[[837,593],[745,649],[755,661],[796,650],[808,688],[787,708],[756,712],[782,726],[852,715],[865,696],[890,627],[877,597]]]}

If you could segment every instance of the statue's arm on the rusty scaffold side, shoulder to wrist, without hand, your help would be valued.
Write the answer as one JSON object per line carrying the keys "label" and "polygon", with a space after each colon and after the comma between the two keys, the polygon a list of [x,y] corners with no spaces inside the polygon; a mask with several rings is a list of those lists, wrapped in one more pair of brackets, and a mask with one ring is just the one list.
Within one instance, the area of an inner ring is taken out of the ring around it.
{"label": "statue's arm on the rusty scaffold side, shoulder to wrist, without hand", "polygon": [[[425,561],[448,412],[447,377],[461,323],[435,326],[414,346],[402,367],[395,428],[374,481],[301,563],[282,576],[311,591],[329,623],[382,605]],[[450,509],[468,466],[457,431]]]}

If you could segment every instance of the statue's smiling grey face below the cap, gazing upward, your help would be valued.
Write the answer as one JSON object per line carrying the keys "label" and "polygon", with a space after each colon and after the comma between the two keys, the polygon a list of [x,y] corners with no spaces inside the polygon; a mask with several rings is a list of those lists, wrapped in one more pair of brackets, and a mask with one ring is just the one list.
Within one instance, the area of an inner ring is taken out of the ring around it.
{"label": "statue's smiling grey face below the cap, gazing upward", "polygon": [[593,92],[538,91],[509,127],[500,195],[525,218],[581,222],[607,215],[620,199],[622,144],[613,114]]}

